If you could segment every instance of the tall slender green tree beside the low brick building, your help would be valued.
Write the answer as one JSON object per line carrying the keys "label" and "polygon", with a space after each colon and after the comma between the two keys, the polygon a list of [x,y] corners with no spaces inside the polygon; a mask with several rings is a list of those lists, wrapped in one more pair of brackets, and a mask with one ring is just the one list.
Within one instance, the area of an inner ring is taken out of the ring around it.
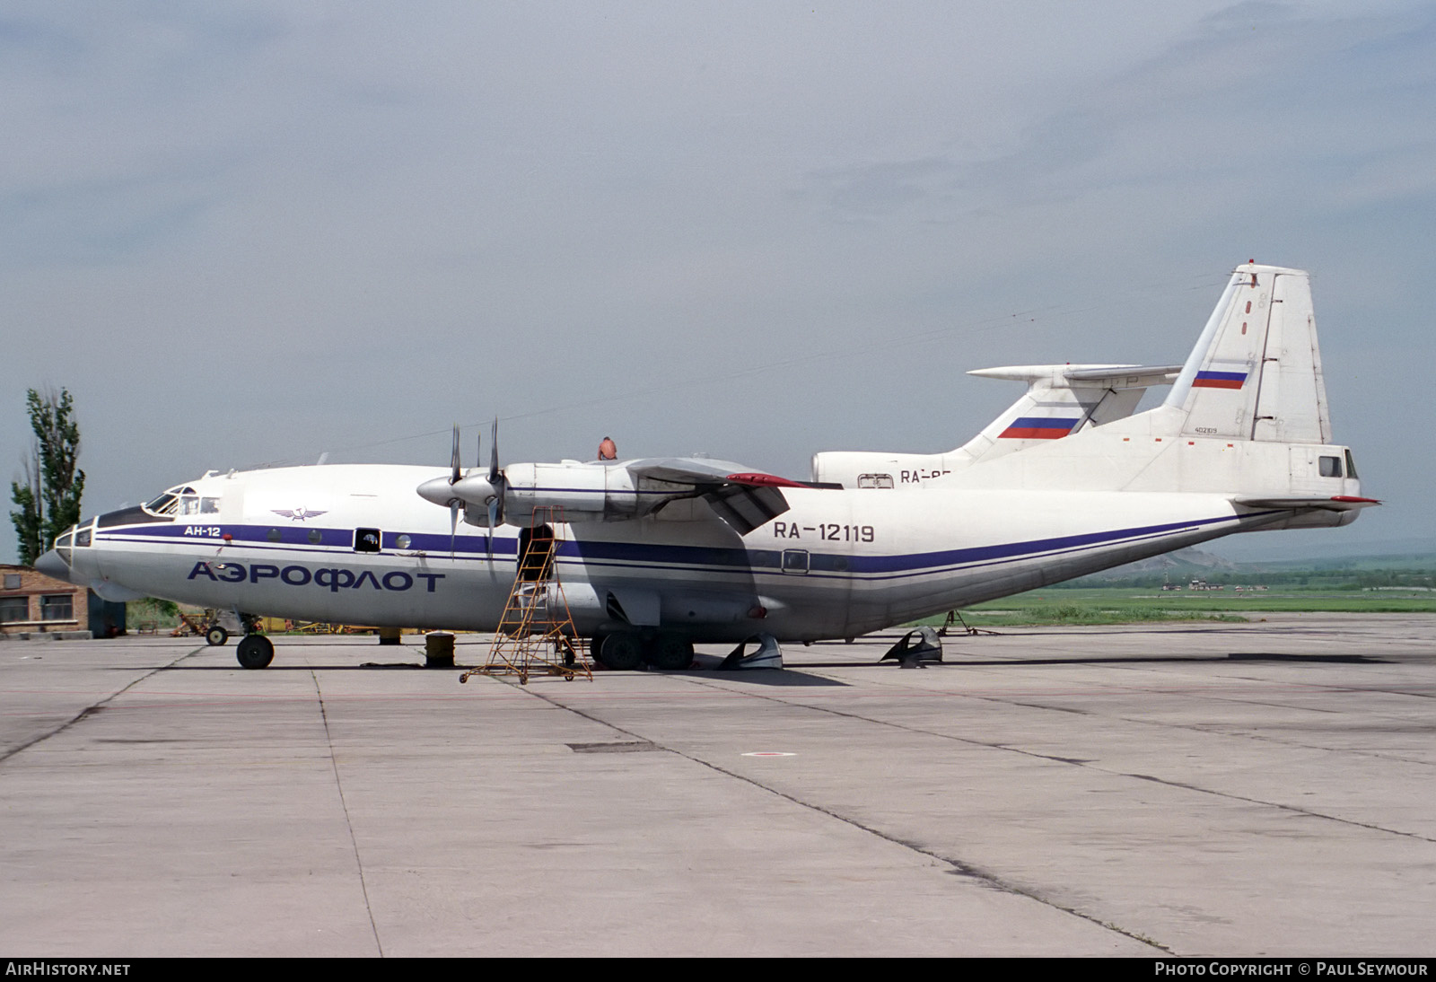
{"label": "tall slender green tree beside the low brick building", "polygon": [[10,482],[10,500],[19,505],[19,511],[10,513],[10,523],[19,540],[20,561],[30,566],[56,536],[80,520],[85,471],[76,467],[80,428],[69,391],[47,389],[42,395],[29,389],[24,402],[34,439],[22,461],[23,482]]}

